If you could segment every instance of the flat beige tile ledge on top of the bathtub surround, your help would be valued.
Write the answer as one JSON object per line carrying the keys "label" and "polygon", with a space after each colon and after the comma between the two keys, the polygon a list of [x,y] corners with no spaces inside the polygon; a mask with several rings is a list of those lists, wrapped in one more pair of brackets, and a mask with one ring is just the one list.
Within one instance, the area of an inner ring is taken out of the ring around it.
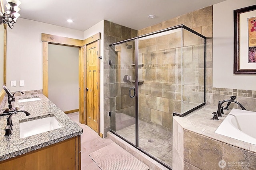
{"label": "flat beige tile ledge on top of the bathtub surround", "polygon": [[217,141],[221,141],[245,150],[249,150],[252,152],[256,152],[256,145],[246,143],[244,141],[240,141],[231,137],[226,137],[224,135],[220,135],[215,133],[216,129],[222,123],[222,121],[226,118],[229,111],[224,110],[223,117],[219,117],[219,121],[213,120],[212,112],[217,111],[218,106],[203,106],[199,109],[193,111],[192,113],[184,116],[178,117],[174,116],[173,119],[177,121],[177,123],[188,131],[192,131],[194,133],[198,133],[200,135],[204,135],[206,137],[215,139]]}

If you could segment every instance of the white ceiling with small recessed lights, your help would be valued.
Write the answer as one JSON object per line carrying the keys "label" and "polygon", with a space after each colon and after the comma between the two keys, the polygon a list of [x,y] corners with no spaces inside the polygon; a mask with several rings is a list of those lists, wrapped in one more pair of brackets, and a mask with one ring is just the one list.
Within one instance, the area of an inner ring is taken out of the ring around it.
{"label": "white ceiling with small recessed lights", "polygon": [[[101,20],[138,30],[224,0],[21,1],[20,18],[85,31]],[[150,14],[155,15],[156,18],[149,19]],[[72,19],[73,23],[68,23],[68,19]]]}

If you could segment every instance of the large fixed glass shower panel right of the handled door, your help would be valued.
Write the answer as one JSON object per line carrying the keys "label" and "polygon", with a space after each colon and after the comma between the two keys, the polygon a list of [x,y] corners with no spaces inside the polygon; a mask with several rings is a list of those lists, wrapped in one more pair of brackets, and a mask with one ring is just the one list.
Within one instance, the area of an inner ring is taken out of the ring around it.
{"label": "large fixed glass shower panel right of the handled door", "polygon": [[[181,111],[182,29],[139,38],[139,147],[172,166],[172,113]],[[175,106],[175,107],[174,107]]]}

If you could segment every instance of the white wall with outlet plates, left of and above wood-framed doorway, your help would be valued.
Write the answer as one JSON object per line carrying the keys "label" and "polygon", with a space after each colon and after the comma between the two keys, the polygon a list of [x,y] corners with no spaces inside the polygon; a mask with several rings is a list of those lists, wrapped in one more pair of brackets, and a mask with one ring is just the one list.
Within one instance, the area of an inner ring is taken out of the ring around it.
{"label": "white wall with outlet plates, left of and above wood-framed doorway", "polygon": [[[19,18],[7,30],[6,85],[11,91],[42,89],[41,33],[83,39],[83,31]],[[16,80],[16,87],[10,87]],[[19,86],[25,80],[25,86]]]}

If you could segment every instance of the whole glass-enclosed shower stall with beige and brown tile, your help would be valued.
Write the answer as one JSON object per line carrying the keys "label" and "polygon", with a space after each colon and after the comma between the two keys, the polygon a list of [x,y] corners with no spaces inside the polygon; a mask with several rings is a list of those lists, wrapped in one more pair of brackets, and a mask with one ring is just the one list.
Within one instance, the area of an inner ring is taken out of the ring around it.
{"label": "whole glass-enclosed shower stall with beige and brown tile", "polygon": [[205,104],[205,37],[181,25],[106,48],[106,130],[172,167],[173,113]]}

